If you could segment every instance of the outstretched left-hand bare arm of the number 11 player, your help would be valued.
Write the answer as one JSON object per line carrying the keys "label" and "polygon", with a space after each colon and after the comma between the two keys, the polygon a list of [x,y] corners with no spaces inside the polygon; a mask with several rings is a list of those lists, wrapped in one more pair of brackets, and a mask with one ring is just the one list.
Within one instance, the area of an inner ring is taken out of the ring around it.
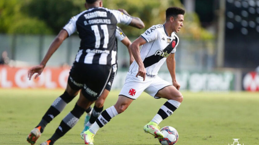
{"label": "outstretched left-hand bare arm of the number 11 player", "polygon": [[28,77],[29,80],[33,76],[34,73],[38,73],[35,76],[35,79],[41,74],[43,69],[45,68],[46,63],[49,61],[49,58],[52,56],[52,54],[58,49],[58,47],[61,45],[61,43],[68,37],[68,32],[64,29],[62,29],[57,37],[53,40],[53,42],[49,46],[49,50],[46,53],[45,57],[41,61],[41,63],[37,66],[32,67],[28,71]]}

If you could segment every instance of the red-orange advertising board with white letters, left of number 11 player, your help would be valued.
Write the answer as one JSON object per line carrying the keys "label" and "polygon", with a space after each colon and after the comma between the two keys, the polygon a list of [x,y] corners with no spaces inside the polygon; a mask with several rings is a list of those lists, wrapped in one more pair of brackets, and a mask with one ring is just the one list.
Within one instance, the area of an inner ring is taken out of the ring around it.
{"label": "red-orange advertising board with white letters, left of number 11 player", "polygon": [[29,68],[16,68],[0,66],[1,88],[66,88],[70,68],[46,67],[44,71],[34,79],[28,78]]}

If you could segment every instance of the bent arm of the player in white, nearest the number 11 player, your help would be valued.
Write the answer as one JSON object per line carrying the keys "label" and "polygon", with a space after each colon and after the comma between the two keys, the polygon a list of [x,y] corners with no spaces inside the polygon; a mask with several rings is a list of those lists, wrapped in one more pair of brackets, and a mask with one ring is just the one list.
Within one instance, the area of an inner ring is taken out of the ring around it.
{"label": "bent arm of the player in white, nearest the number 11 player", "polygon": [[144,67],[143,61],[141,60],[140,57],[140,51],[139,51],[139,46],[147,43],[146,40],[144,40],[142,37],[139,37],[136,39],[131,45],[130,45],[130,50],[132,52],[133,57],[135,58],[135,61],[139,65],[139,72],[137,73],[137,76],[143,77],[143,81],[146,78],[146,69]]}

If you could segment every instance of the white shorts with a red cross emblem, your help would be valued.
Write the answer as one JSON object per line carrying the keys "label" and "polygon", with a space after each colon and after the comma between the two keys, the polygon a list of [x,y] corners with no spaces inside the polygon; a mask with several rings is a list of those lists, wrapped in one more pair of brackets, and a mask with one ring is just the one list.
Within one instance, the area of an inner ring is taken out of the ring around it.
{"label": "white shorts with a red cross emblem", "polygon": [[154,78],[149,78],[146,76],[145,81],[143,81],[142,77],[127,75],[125,83],[120,91],[120,95],[131,99],[137,99],[144,91],[155,99],[159,99],[160,97],[155,96],[157,92],[170,85],[172,84],[161,79],[159,76]]}

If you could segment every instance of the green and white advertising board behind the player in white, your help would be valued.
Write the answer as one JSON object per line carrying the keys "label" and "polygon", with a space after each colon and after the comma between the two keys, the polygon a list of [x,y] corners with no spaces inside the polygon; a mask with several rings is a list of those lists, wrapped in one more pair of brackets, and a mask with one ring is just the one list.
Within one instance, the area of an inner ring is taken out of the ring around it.
{"label": "green and white advertising board behind the player in white", "polygon": [[[123,86],[127,72],[118,72],[112,84],[113,89]],[[169,72],[159,72],[163,80],[172,82]],[[231,91],[236,90],[235,74],[232,72],[176,72],[176,80],[181,90],[190,91]],[[239,83],[240,84],[240,83]]]}

